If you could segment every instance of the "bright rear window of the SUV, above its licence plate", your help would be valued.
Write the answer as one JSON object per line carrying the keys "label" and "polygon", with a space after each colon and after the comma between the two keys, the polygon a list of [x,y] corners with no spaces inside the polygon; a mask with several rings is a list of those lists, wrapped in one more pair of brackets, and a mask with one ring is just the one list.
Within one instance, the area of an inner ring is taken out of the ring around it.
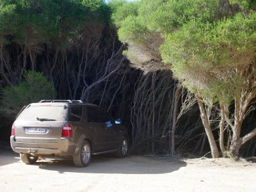
{"label": "bright rear window of the SUV, above its licence plate", "polygon": [[22,120],[36,120],[36,118],[48,118],[56,121],[65,120],[67,115],[67,108],[65,106],[29,106],[24,109],[17,119]]}

